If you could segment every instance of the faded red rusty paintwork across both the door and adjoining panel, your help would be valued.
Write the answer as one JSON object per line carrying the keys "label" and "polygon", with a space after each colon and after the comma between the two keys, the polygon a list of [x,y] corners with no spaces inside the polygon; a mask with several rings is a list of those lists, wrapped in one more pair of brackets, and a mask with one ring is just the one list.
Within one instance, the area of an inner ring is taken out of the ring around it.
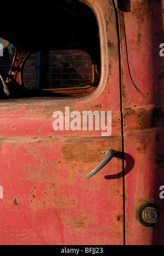
{"label": "faded red rusty paintwork across both the door and adjoining panel", "polygon": [[[95,11],[99,25],[98,88],[78,100],[0,102],[1,244],[163,243],[161,3],[131,1],[115,9],[110,0],[84,2]],[[112,111],[112,135],[55,132],[52,114],[65,113],[65,106],[80,113]],[[107,149],[115,149],[116,157],[85,179]],[[155,203],[160,211],[159,222],[149,228],[137,217],[145,202]]]}

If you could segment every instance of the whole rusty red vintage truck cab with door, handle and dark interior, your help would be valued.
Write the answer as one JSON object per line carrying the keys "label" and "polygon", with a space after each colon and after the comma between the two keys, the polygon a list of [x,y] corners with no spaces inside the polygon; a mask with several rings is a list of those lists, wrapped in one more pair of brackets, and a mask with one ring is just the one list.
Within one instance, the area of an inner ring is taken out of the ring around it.
{"label": "whole rusty red vintage truck cab with door, handle and dark interior", "polygon": [[[0,29],[16,46],[1,86],[1,245],[163,245],[162,2],[50,6],[27,7],[21,30],[10,7]],[[25,88],[28,56],[69,49],[90,54],[90,86]]]}

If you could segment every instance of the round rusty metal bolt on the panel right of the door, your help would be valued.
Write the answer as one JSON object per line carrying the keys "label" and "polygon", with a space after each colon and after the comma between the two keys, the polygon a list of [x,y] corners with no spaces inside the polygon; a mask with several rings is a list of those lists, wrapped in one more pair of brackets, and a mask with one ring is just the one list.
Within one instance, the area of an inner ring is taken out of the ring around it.
{"label": "round rusty metal bolt on the panel right of the door", "polygon": [[142,211],[142,218],[148,224],[156,223],[159,220],[159,212],[154,207],[146,207]]}

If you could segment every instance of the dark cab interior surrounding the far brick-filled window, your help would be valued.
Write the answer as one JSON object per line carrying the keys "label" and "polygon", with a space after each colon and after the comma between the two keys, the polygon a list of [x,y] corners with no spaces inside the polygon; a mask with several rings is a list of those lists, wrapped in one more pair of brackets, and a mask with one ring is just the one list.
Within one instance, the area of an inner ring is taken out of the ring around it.
{"label": "dark cab interior surrounding the far brick-filled window", "polygon": [[[21,14],[21,18],[20,18]],[[3,19],[2,17],[0,18]],[[22,80],[27,57],[44,50],[80,49],[91,56],[93,82],[98,86],[101,71],[99,28],[95,13],[85,3],[77,0],[56,0],[25,9],[13,4],[8,12],[8,22],[1,22],[0,37],[15,46],[9,73],[0,67],[1,99],[30,97],[69,97],[66,90],[29,90]],[[69,89],[69,88],[68,88]],[[71,91],[77,91],[74,89]],[[80,91],[80,89],[78,89]],[[87,91],[87,89],[86,89]],[[88,92],[90,93],[90,92]]]}

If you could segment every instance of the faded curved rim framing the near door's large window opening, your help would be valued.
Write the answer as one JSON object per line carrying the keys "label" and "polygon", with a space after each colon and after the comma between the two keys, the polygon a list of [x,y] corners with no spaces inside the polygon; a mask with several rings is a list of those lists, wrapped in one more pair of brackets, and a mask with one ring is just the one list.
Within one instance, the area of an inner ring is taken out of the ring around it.
{"label": "faded curved rim framing the near door's large window opening", "polygon": [[[111,9],[109,10],[107,8],[107,3],[112,5]],[[100,42],[100,52],[101,52],[101,77],[99,80],[99,84],[97,86],[97,89],[93,91],[91,94],[86,95],[85,97],[35,97],[35,98],[16,98],[13,100],[1,100],[0,106],[43,106],[43,104],[75,104],[77,102],[88,102],[92,101],[93,99],[96,99],[99,97],[104,89],[106,88],[106,84],[109,78],[109,71],[108,71],[108,63],[111,63],[113,60],[111,59],[111,56],[109,56],[109,47],[108,43],[110,42],[110,34],[107,31],[107,15],[104,14],[104,10],[107,12],[110,12],[111,17],[110,20],[114,20],[114,22],[108,23],[108,30],[113,31],[115,30],[116,25],[116,16],[115,13],[113,13],[112,10],[115,9],[112,0],[109,1],[101,1],[97,0],[93,2],[92,0],[80,0],[80,2],[83,2],[87,4],[95,13],[97,24],[99,27],[99,42]],[[116,34],[113,35],[114,40],[118,40],[118,34],[116,31]],[[117,45],[118,46],[118,45]],[[28,53],[26,57],[28,56]]]}

